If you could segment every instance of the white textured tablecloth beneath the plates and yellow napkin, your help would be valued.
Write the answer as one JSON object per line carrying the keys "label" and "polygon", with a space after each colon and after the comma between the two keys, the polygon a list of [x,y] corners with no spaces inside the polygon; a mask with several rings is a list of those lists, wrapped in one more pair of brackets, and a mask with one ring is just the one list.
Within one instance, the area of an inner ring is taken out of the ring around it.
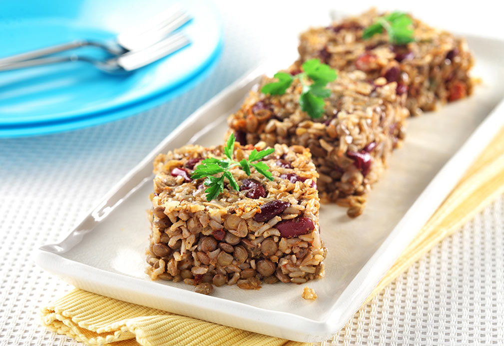
{"label": "white textured tablecloth beneath the plates and yellow napkin", "polygon": [[[307,2],[219,5],[225,20],[224,52],[216,70],[192,91],[114,123],[0,140],[0,345],[80,345],[38,322],[38,309],[71,287],[37,267],[30,258],[33,250],[60,240],[187,115],[281,49],[275,38],[288,37],[282,45],[295,49],[295,33],[311,23],[327,23],[331,6],[356,12],[372,2],[344,9],[337,2],[317,3],[317,9]],[[490,2],[478,2],[477,8],[452,7],[395,1],[386,8],[411,10],[454,31],[502,35],[501,9]],[[332,342],[504,344],[503,251],[501,197],[357,312]]]}

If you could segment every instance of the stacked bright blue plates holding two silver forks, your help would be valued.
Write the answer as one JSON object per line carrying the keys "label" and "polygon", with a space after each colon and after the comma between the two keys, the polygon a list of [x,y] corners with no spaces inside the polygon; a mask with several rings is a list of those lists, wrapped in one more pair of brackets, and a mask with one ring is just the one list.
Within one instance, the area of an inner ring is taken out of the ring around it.
{"label": "stacked bright blue plates holding two silver forks", "polygon": [[[0,4],[0,57],[79,38],[111,39],[175,1],[51,1]],[[129,116],[167,101],[208,73],[221,46],[211,2],[180,1],[193,20],[191,45],[130,74],[110,76],[85,62],[0,73],[0,136],[50,133]],[[88,55],[102,54],[85,48]]]}

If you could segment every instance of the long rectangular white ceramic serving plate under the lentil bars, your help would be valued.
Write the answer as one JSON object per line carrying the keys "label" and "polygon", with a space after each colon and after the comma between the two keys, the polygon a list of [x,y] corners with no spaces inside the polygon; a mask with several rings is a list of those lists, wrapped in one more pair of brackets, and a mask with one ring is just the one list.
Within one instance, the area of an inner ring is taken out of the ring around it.
{"label": "long rectangular white ceramic serving plate under the lentil bars", "polygon": [[187,143],[223,142],[226,117],[264,73],[289,61],[262,66],[225,89],[187,118],[124,177],[89,216],[58,244],[44,245],[37,263],[68,283],[101,295],[224,325],[299,341],[336,333],[380,281],[406,245],[504,124],[504,42],[468,37],[483,82],[470,98],[410,119],[404,146],[369,194],[364,213],[350,219],[333,204],[321,209],[328,248],[326,276],[309,282],[319,298],[301,298],[305,285],[236,286],[204,296],[192,286],[151,281],[144,273],[152,191],[152,161]]}

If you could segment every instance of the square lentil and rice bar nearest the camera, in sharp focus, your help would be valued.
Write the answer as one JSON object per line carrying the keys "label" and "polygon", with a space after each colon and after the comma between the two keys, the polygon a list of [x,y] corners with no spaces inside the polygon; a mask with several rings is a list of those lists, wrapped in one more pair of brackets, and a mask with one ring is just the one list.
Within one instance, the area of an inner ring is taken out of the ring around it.
{"label": "square lentil and rice bar nearest the camera, in sharp focus", "polygon": [[[208,294],[212,284],[258,289],[262,282],[300,284],[323,276],[326,249],[311,155],[300,146],[274,148],[264,158],[273,181],[235,167],[240,191],[226,178],[224,192],[210,202],[204,179],[191,174],[202,159],[224,158],[222,146],[185,146],[157,156],[147,251],[153,280],[183,281]],[[239,161],[253,149],[236,143],[234,155]]]}

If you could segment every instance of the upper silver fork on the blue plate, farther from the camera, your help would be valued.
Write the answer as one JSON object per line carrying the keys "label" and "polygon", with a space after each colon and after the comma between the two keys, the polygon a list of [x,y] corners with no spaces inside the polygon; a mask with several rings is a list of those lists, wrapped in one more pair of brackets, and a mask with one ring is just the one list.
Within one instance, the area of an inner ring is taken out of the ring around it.
{"label": "upper silver fork on the blue plate, farther from the camera", "polygon": [[[154,18],[150,18],[148,21],[135,27],[129,28],[128,30],[118,34],[111,41],[97,42],[93,40],[77,40],[74,42],[59,44],[1,58],[0,65],[25,61],[34,58],[41,58],[54,53],[59,53],[62,51],[84,46],[99,47],[111,55],[118,56],[129,51],[142,50],[144,48],[152,46],[153,44],[160,42],[168,34],[178,29],[190,20],[191,17],[187,13],[182,11],[179,5],[175,5],[158,14]],[[66,59],[68,58],[69,57],[67,57]],[[75,59],[75,56],[73,56],[73,58]],[[63,59],[64,61],[66,61],[65,58]],[[79,57],[79,60],[84,60],[84,57]]]}

